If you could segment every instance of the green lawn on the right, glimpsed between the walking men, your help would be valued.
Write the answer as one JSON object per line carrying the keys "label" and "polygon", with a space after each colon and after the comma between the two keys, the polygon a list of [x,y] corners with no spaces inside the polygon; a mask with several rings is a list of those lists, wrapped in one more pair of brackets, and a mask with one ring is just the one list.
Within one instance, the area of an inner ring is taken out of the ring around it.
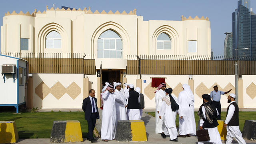
{"label": "green lawn on the right, glimpsed between the walking men", "polygon": [[[151,116],[155,117],[155,112],[147,112]],[[226,118],[226,112],[221,112],[221,119],[225,120]],[[197,112],[195,112],[195,120],[196,120],[196,127],[198,124],[199,116],[197,115]],[[239,112],[239,129],[242,132],[244,128],[244,121],[245,120],[256,120],[256,112]],[[178,115],[176,116],[176,126],[179,125],[179,119]]]}

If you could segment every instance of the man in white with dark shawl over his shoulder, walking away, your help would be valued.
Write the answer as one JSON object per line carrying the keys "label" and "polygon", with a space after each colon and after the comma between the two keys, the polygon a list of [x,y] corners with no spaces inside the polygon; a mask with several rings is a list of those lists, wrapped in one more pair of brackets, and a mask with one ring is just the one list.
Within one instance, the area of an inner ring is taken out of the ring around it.
{"label": "man in white with dark shawl over his shoulder, walking away", "polygon": [[165,90],[167,96],[162,98],[160,105],[159,118],[164,117],[164,124],[168,131],[164,132],[166,135],[170,135],[170,141],[178,142],[178,131],[176,128],[176,115],[178,112],[178,100],[175,96],[172,96],[172,88],[166,88]]}

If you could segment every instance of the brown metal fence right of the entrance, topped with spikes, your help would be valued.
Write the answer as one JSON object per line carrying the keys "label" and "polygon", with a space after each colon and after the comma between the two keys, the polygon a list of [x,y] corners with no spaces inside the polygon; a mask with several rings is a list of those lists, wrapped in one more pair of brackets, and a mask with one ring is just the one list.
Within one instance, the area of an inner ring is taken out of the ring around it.
{"label": "brown metal fence right of the entrance, topped with spikes", "polygon": [[[127,74],[233,75],[234,57],[224,56],[127,56]],[[256,58],[241,57],[238,74],[256,74]]]}

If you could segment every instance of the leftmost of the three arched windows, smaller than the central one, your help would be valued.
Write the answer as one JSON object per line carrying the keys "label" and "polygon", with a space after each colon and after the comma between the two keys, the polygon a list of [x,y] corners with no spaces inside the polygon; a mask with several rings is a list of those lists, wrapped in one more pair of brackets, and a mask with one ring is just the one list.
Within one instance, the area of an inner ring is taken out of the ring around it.
{"label": "leftmost of the three arched windows, smaller than the central one", "polygon": [[46,36],[45,40],[46,48],[61,48],[61,36],[56,31],[51,31]]}

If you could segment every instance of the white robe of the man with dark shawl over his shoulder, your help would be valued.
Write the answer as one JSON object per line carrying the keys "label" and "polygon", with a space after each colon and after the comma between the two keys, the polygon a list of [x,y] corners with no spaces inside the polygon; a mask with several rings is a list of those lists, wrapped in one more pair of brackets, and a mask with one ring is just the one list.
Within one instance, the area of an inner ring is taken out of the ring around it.
{"label": "white robe of the man with dark shawl over his shoulder", "polygon": [[[169,95],[167,95],[169,97]],[[175,96],[172,96],[175,102],[179,105],[178,100]],[[168,133],[165,132],[166,135],[170,135],[170,139],[173,140],[177,138],[178,131],[176,128],[176,115],[178,110],[175,112],[172,111],[171,104],[168,106],[166,102],[162,100],[159,110],[159,116],[164,117],[164,124],[168,129]]]}

